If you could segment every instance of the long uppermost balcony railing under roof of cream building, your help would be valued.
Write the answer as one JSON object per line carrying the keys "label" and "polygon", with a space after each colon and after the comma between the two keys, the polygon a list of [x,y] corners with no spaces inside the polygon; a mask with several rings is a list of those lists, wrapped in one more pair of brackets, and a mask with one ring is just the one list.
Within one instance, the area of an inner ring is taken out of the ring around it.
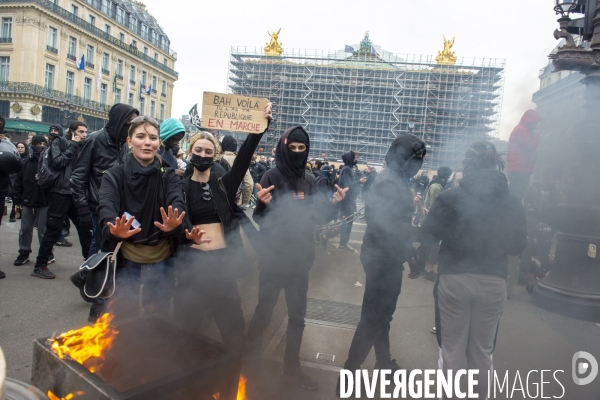
{"label": "long uppermost balcony railing under roof of cream building", "polygon": [[[147,62],[148,64],[160,69],[161,71],[164,71],[167,74],[169,74],[175,78],[179,78],[179,74],[177,73],[177,71],[159,63],[158,61],[152,59],[151,57],[148,57],[147,55],[145,55],[141,51],[133,48],[129,44],[122,42],[121,40],[119,40],[118,38],[116,38],[114,36],[109,35],[105,31],[91,25],[86,20],[81,19],[76,15],[73,15],[70,11],[67,11],[64,8],[59,7],[56,4],[54,4],[48,0],[0,0],[0,3],[33,3],[33,4],[37,4],[38,6],[44,8],[48,11],[53,12],[55,15],[58,15],[59,17],[64,18],[65,20],[73,23],[74,25],[77,25],[78,27],[85,29],[86,31],[95,35],[96,37],[99,37],[102,40],[106,40],[107,42],[110,42],[111,44],[121,48],[122,50],[124,50],[130,54],[133,54],[134,56],[136,56],[139,59],[143,60],[144,62]],[[162,46],[160,48],[163,51],[168,52],[169,55],[171,55],[172,57],[174,57],[174,58],[177,57],[177,53],[175,53],[171,49],[165,48],[165,46]]]}

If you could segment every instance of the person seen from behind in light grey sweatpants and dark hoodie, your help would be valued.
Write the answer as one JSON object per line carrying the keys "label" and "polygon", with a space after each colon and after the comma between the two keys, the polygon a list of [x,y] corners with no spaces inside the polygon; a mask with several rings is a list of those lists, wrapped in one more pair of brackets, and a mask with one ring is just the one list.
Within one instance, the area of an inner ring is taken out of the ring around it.
{"label": "person seen from behind in light grey sweatpants and dark hoodie", "polygon": [[421,230],[441,240],[433,292],[439,368],[478,369],[476,393],[485,399],[506,304],[508,255],[525,249],[527,225],[492,143],[473,143],[463,167],[460,185],[438,196]]}

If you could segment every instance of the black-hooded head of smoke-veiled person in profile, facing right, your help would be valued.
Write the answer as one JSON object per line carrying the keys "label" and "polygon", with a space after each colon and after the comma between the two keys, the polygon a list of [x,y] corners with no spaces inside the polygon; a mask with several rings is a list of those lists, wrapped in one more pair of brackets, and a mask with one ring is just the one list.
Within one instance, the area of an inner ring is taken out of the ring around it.
{"label": "black-hooded head of smoke-veiled person in profile, facing right", "polygon": [[[408,179],[421,169],[425,153],[425,142],[421,139],[414,135],[400,135],[390,145],[385,162],[391,170]],[[423,154],[423,157],[417,157],[417,154]]]}

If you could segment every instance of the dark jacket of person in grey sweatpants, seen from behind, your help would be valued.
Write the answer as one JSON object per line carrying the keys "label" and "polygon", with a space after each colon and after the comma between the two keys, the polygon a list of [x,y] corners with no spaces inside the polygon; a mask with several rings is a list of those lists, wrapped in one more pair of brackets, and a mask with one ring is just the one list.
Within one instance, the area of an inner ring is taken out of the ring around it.
{"label": "dark jacket of person in grey sweatpants, seen from behind", "polygon": [[527,244],[525,209],[496,170],[472,172],[440,194],[421,225],[441,240],[440,274],[474,273],[506,278],[508,255]]}

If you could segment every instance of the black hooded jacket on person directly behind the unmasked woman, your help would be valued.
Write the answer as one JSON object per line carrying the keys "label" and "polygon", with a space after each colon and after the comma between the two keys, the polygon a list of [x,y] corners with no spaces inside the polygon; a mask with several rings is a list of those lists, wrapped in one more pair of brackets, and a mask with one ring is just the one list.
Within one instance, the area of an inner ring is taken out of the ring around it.
{"label": "black hooded jacket on person directly behind the unmasked woman", "polygon": [[106,127],[90,134],[83,143],[71,174],[71,192],[77,208],[89,207],[96,213],[104,172],[123,164],[127,155],[125,138],[119,133],[133,113],[139,111],[127,104],[115,104],[108,113]]}

